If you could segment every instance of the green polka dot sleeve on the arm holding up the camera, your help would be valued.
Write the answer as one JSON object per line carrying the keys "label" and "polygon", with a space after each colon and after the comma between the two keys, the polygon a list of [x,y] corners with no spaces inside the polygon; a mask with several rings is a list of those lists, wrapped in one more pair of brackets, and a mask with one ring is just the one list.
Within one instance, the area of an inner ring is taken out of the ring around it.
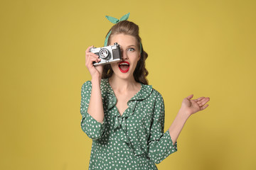
{"label": "green polka dot sleeve on the arm holding up the camera", "polygon": [[105,129],[105,117],[103,123],[99,123],[97,120],[95,120],[95,118],[92,118],[92,116],[87,113],[91,91],[92,83],[90,81],[86,81],[84,84],[82,84],[80,104],[80,113],[82,115],[81,128],[88,137],[98,140],[102,137]]}

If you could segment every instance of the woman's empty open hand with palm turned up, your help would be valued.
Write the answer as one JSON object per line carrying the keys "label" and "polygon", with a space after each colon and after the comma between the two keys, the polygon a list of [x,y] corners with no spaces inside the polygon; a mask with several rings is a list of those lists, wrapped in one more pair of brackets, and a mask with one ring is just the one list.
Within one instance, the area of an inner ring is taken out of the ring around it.
{"label": "woman's empty open hand with palm turned up", "polygon": [[208,104],[206,105],[206,103],[210,101],[210,98],[200,97],[193,100],[191,100],[191,98],[193,98],[193,94],[191,94],[187,98],[184,98],[181,103],[180,111],[186,113],[188,116],[198,111],[203,111],[208,107]]}

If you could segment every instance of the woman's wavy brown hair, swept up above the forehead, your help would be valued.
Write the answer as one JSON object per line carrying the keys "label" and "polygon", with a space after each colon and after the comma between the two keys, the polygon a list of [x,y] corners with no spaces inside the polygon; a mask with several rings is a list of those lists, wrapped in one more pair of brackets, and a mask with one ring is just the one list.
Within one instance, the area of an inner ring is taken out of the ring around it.
{"label": "woman's wavy brown hair, swept up above the forehead", "polygon": [[[137,26],[137,24],[131,21],[120,21],[119,23],[112,26],[110,30],[111,30],[111,34],[110,34],[110,38],[107,41],[107,45],[110,44],[111,35],[124,33],[125,35],[134,36],[134,38],[136,38],[138,42],[137,44],[139,47],[138,49],[140,49],[140,44],[142,45],[142,39],[139,37],[139,26]],[[140,82],[142,84],[149,84],[148,80],[146,79],[146,76],[149,74],[149,72],[146,70],[146,67],[145,67],[145,61],[147,57],[148,55],[143,50],[143,46],[142,46],[141,57],[137,62],[137,66],[133,73],[135,81]],[[103,72],[102,72],[102,79],[110,78],[112,77],[112,74],[113,74],[113,70],[110,64],[104,65]]]}

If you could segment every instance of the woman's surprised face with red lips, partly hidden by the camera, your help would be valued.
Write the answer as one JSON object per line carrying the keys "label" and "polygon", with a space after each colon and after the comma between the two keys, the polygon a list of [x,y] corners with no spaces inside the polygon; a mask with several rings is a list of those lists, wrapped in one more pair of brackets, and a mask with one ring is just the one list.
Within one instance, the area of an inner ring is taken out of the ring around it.
{"label": "woman's surprised face with red lips, partly hidden by the camera", "polygon": [[117,42],[120,45],[122,61],[114,62],[111,65],[114,74],[121,79],[134,79],[133,73],[140,58],[140,50],[136,38],[132,35],[112,35],[110,45]]}

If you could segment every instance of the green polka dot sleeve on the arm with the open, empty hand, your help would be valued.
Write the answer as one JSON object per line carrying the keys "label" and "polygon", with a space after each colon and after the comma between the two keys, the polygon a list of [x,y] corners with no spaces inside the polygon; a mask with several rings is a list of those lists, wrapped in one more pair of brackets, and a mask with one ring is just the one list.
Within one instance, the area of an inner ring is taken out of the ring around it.
{"label": "green polka dot sleeve on the arm with the open, empty hand", "polygon": [[159,94],[154,106],[151,130],[149,134],[149,158],[159,164],[170,154],[177,151],[177,142],[173,145],[169,130],[164,132],[164,100]]}

